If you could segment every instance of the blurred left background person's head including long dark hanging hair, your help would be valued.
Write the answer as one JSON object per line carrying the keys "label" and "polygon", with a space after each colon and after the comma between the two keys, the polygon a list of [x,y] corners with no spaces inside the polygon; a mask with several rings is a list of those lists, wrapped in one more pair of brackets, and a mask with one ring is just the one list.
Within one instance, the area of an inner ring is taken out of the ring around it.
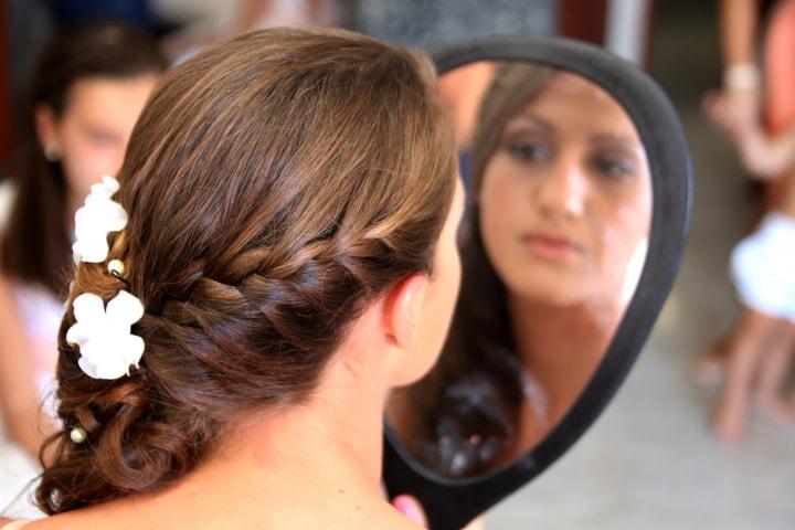
{"label": "blurred left background person's head including long dark hanging hair", "polygon": [[39,59],[14,168],[17,199],[2,268],[61,290],[68,218],[98,174],[115,174],[167,63],[146,32],[114,22],[56,35]]}

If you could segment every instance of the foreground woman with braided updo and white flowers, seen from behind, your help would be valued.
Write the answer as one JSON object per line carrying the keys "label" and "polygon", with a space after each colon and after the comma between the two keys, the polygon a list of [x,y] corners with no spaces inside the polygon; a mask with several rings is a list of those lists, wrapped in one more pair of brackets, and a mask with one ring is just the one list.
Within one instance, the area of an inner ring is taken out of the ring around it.
{"label": "foreground woman with braided updo and white flowers, seen from behind", "polygon": [[435,361],[460,275],[435,82],[418,54],[309,30],[163,76],[118,204],[105,179],[78,213],[78,234],[128,221],[98,263],[104,234],[78,235],[53,517],[31,528],[415,528],[379,476],[386,393]]}

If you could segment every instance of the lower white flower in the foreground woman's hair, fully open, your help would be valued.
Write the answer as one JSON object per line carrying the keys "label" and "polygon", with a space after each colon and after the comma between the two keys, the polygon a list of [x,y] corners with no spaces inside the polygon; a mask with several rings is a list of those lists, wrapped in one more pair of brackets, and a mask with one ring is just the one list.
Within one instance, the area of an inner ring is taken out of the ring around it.
{"label": "lower white flower in the foreground woman's hair, fully open", "polygon": [[72,307],[77,322],[66,331],[66,342],[80,346],[80,368],[94,379],[129,375],[144,354],[144,339],[130,333],[144,316],[140,300],[120,290],[106,308],[97,295],[84,293]]}

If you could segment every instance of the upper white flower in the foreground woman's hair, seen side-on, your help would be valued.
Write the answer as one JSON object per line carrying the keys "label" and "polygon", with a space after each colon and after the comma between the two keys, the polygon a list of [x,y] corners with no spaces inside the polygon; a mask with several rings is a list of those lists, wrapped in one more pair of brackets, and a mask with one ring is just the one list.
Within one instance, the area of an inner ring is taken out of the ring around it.
{"label": "upper white flower in the foreground woman's hair, seen side-on", "polygon": [[127,212],[121,204],[110,200],[118,189],[116,179],[104,176],[100,183],[92,186],[85,204],[75,213],[76,241],[72,245],[75,264],[104,262],[109,251],[107,234],[127,225]]}

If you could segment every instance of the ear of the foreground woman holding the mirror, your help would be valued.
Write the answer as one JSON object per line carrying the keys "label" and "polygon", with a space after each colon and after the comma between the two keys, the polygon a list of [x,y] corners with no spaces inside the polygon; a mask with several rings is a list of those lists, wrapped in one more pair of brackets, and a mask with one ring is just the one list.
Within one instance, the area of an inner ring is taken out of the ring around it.
{"label": "ear of the foreground woman holding the mirror", "polygon": [[417,341],[428,277],[412,274],[395,284],[384,299],[382,327],[392,346],[409,350]]}

